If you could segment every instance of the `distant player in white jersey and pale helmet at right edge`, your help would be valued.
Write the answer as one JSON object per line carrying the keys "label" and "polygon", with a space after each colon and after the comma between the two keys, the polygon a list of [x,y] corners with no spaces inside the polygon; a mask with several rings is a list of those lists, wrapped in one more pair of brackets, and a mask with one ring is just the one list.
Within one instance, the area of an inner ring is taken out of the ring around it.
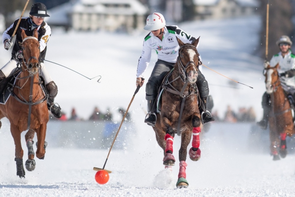
{"label": "distant player in white jersey and pale helmet at right edge", "polygon": [[[292,41],[288,36],[281,36],[276,42],[280,48],[280,52],[274,55],[270,62],[264,63],[264,68],[268,65],[271,67],[279,64],[278,73],[283,89],[291,98],[295,93],[295,55],[291,52]],[[263,119],[258,122],[262,129],[267,129],[268,114],[270,113],[270,95],[264,93],[262,96]]]}

